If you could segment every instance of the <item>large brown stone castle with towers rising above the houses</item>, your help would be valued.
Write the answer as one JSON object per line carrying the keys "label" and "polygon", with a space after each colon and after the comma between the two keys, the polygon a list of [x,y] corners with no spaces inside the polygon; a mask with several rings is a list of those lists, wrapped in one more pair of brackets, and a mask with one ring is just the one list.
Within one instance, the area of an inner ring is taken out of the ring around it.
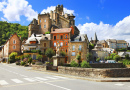
{"label": "large brown stone castle with towers rising above the houses", "polygon": [[78,28],[75,26],[75,16],[73,14],[64,14],[63,5],[57,5],[54,11],[50,13],[38,14],[38,20],[33,19],[28,26],[29,37],[31,34],[44,34],[58,28],[73,27],[75,34],[79,34]]}

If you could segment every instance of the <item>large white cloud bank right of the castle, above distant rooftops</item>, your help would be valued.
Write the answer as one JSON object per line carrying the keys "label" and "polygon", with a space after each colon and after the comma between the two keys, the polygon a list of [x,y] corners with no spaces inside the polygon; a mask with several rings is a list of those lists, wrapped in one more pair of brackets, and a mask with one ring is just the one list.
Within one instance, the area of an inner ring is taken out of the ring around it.
{"label": "large white cloud bank right of the castle, above distant rooftops", "polygon": [[86,33],[88,38],[94,38],[94,33],[97,33],[99,40],[103,39],[120,39],[130,42],[130,16],[125,17],[123,20],[116,23],[112,26],[110,24],[104,24],[100,22],[96,23],[85,23],[83,25],[79,24],[77,26],[80,30],[80,33]]}

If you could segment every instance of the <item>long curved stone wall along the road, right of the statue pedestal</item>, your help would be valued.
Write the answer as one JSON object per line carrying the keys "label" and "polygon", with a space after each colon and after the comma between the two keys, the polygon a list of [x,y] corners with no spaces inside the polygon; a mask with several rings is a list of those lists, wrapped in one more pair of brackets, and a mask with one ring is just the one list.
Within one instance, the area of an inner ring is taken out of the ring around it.
{"label": "long curved stone wall along the road, right of the statue pedestal", "polygon": [[58,73],[81,77],[130,77],[130,68],[77,68],[58,66]]}

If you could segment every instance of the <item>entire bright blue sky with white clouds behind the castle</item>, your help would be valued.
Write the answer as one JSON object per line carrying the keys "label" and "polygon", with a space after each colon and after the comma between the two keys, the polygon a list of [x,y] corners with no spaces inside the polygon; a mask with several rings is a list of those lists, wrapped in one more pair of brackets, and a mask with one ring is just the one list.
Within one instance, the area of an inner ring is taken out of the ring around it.
{"label": "entire bright blue sky with white clouds behind the castle", "polygon": [[0,0],[0,20],[28,25],[38,13],[63,4],[73,13],[80,33],[88,38],[120,39],[130,42],[130,0]]}

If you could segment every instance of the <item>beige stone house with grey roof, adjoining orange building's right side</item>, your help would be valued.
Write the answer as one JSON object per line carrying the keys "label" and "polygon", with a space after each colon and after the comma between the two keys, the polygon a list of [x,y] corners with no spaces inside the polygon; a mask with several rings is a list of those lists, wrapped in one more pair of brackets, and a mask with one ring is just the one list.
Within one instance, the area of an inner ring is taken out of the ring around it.
{"label": "beige stone house with grey roof, adjoining orange building's right side", "polygon": [[75,60],[78,62],[76,59],[76,56],[78,54],[81,55],[81,60],[87,60],[86,55],[89,53],[89,40],[86,34],[79,34],[79,35],[74,35],[70,39],[69,43],[69,61],[68,63],[71,63],[72,60]]}

